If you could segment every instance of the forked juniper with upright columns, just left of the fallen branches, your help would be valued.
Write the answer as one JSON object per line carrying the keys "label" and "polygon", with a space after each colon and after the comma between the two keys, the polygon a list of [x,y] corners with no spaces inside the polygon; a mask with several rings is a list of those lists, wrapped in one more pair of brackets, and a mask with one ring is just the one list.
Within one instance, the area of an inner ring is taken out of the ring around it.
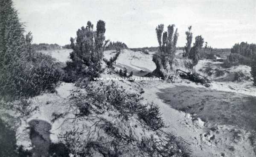
{"label": "forked juniper with upright columns, just left of the fallen branches", "polygon": [[163,24],[157,26],[157,41],[159,49],[153,55],[153,61],[156,64],[156,69],[152,72],[154,76],[167,78],[172,72],[173,59],[176,52],[176,44],[178,39],[177,29],[174,31],[175,25],[169,25],[167,32],[163,32]]}

